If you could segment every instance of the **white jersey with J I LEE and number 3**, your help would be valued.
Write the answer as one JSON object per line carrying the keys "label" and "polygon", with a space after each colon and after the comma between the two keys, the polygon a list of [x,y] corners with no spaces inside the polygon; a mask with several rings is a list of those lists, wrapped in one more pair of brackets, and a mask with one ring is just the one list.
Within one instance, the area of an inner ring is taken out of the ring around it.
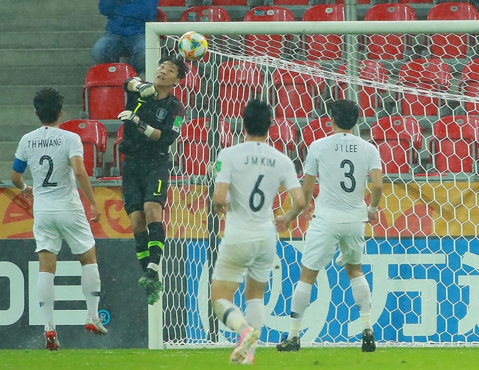
{"label": "white jersey with J I LEE and number 3", "polygon": [[368,221],[364,189],[373,168],[381,169],[378,149],[349,133],[314,141],[304,173],[319,175],[314,216],[322,223]]}

